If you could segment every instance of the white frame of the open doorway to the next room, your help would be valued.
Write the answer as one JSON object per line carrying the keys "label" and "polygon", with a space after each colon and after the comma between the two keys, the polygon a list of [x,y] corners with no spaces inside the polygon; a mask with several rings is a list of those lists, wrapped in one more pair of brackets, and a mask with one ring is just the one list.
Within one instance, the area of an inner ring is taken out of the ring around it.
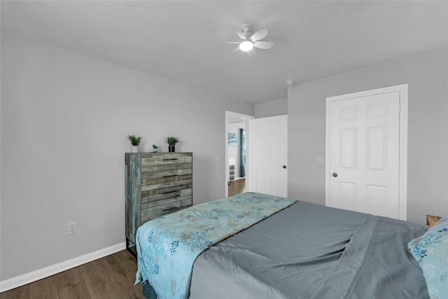
{"label": "white frame of the open doorway to the next room", "polygon": [[224,178],[225,178],[225,197],[229,196],[229,188],[228,188],[228,173],[229,173],[229,153],[228,153],[228,123],[229,123],[229,119],[230,118],[240,118],[241,120],[246,120],[246,191],[249,190],[248,189],[248,179],[250,179],[250,148],[251,148],[251,139],[250,139],[250,133],[248,132],[248,126],[249,126],[249,120],[253,120],[255,119],[255,116],[249,116],[246,114],[241,114],[241,113],[237,113],[237,112],[232,112],[232,111],[225,111],[225,137],[223,138],[225,140],[225,157],[224,157],[224,162],[225,162],[225,172],[224,172]]}

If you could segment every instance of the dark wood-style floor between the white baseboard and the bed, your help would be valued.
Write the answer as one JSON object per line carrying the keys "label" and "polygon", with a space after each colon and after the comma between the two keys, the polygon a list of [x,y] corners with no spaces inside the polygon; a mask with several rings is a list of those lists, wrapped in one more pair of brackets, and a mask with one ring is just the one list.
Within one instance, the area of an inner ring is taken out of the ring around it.
{"label": "dark wood-style floor between the white baseboard and the bed", "polygon": [[119,251],[0,294],[1,299],[145,299],[134,286],[137,261]]}

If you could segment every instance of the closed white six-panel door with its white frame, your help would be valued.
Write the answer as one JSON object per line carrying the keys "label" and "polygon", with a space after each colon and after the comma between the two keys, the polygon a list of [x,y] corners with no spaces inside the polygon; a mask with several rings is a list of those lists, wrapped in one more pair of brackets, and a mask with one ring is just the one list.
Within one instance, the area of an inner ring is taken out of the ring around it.
{"label": "closed white six-panel door with its white frame", "polygon": [[327,99],[325,202],[330,207],[401,218],[401,90]]}

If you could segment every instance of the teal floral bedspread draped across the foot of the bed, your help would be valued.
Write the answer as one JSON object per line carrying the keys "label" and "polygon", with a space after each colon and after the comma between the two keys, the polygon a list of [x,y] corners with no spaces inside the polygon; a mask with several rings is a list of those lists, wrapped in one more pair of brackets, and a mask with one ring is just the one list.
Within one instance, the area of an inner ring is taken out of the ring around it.
{"label": "teal floral bedspread draped across the foot of the bed", "polygon": [[149,281],[158,298],[188,298],[193,263],[202,251],[294,202],[242,193],[148,221],[137,230],[135,284]]}

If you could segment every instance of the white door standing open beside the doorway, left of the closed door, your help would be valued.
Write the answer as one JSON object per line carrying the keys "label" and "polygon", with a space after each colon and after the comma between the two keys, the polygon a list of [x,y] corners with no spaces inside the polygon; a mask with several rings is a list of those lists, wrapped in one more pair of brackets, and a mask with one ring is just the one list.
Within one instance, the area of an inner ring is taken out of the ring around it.
{"label": "white door standing open beside the doorway, left of the closed door", "polygon": [[248,190],[288,196],[288,116],[249,121],[251,172]]}

